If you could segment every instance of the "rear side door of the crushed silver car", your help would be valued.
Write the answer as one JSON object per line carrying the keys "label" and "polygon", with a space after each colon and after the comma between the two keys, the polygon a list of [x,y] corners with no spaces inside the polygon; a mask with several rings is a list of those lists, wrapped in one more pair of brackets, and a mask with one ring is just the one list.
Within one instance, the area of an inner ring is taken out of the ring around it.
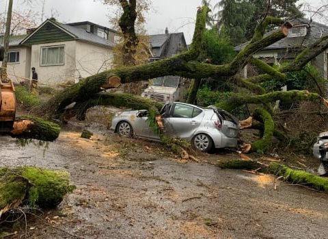
{"label": "rear side door of the crushed silver car", "polygon": [[200,127],[204,110],[184,103],[174,103],[169,116],[164,118],[165,129],[170,136],[189,139],[197,127]]}

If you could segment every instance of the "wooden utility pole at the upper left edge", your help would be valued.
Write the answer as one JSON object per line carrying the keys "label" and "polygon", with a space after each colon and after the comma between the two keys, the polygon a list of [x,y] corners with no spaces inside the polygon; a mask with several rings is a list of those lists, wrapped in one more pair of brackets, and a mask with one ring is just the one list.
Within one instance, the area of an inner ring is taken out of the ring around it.
{"label": "wooden utility pole at the upper left edge", "polygon": [[1,66],[1,81],[8,81],[7,79],[7,62],[8,62],[8,49],[9,49],[9,37],[10,37],[10,25],[12,23],[12,1],[9,0],[8,12],[7,12],[7,22],[5,23],[5,38],[3,42],[4,53],[3,61]]}

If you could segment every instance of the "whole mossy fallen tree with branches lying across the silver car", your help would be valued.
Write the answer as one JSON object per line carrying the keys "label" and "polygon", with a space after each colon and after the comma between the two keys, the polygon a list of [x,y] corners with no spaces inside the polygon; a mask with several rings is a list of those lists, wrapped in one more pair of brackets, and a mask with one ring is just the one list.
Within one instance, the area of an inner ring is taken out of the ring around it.
{"label": "whole mossy fallen tree with branches lying across the silver car", "polygon": [[[247,89],[247,95],[232,95],[232,97],[226,102],[221,102],[217,106],[230,111],[237,105],[243,105],[245,103],[258,105],[257,108],[254,108],[254,113],[251,114],[254,114],[254,116],[257,115],[257,118],[262,121],[264,125],[264,134],[263,138],[260,139],[260,142],[251,144],[250,148],[251,151],[266,151],[271,144],[273,132],[277,129],[277,125],[273,123],[273,110],[271,103],[280,99],[284,99],[284,101],[287,102],[312,101],[318,99],[319,95],[306,90],[267,92],[262,86],[260,86],[260,83],[272,79],[272,77],[278,78],[283,82],[286,73],[290,71],[299,71],[305,66],[305,64],[310,62],[310,60],[325,51],[325,49],[328,48],[328,37],[323,36],[308,48],[299,49],[299,53],[294,60],[275,69],[261,60],[253,58],[253,55],[264,47],[268,47],[274,42],[277,42],[277,40],[285,38],[288,34],[288,29],[292,27],[292,25],[282,19],[266,16],[256,28],[253,38],[245,44],[243,49],[237,53],[230,63],[215,65],[196,62],[195,59],[197,59],[197,56],[200,54],[199,46],[202,43],[207,13],[207,7],[198,10],[193,41],[188,51],[165,60],[139,66],[115,68],[87,77],[79,83],[59,92],[55,97],[41,105],[38,113],[49,118],[53,118],[54,116],[57,118],[63,118],[62,116],[68,112],[68,105],[72,103],[75,103],[76,105],[74,106],[75,111],[69,110],[69,116],[77,115],[78,118],[81,119],[84,118],[85,108],[90,105],[103,104],[122,106],[122,102],[128,102],[127,105],[131,105],[131,108],[137,109],[139,105],[135,104],[133,107],[133,101],[135,101],[134,97],[120,95],[121,99],[116,100],[115,96],[101,95],[99,92],[107,88],[117,87],[120,84],[165,75],[180,75],[182,77],[196,79],[195,82],[207,77],[215,79],[216,77],[228,76],[230,77],[229,80],[231,83],[235,84],[236,87]],[[270,34],[264,35],[268,25],[277,25],[278,27]],[[264,74],[256,77],[249,77],[247,79],[238,76],[238,72],[241,71],[246,64],[256,65]],[[197,91],[197,84],[193,84],[193,86],[190,100],[193,100],[195,92]],[[152,110],[154,110],[151,115],[156,117],[155,113],[158,113],[156,112],[156,108],[158,108],[156,103],[147,106],[148,109],[152,108]],[[152,122],[156,122],[154,118],[152,118]]]}

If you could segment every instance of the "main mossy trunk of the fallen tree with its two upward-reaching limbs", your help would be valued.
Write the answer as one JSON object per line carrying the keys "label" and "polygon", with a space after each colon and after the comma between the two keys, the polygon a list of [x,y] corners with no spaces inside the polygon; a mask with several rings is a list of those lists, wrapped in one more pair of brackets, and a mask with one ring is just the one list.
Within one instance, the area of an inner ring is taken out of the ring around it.
{"label": "main mossy trunk of the fallen tree with its two upward-reaching limbs", "polygon": [[200,48],[198,46],[202,42],[207,11],[208,8],[203,8],[197,14],[195,34],[189,51],[162,61],[143,64],[141,66],[113,69],[87,77],[78,84],[74,84],[74,86],[67,88],[53,97],[46,105],[43,105],[42,109],[45,110],[42,110],[42,112],[47,114],[61,114],[64,112],[64,108],[70,105],[70,103],[85,101],[85,99],[93,97],[94,94],[100,92],[102,86],[113,76],[118,77],[120,82],[124,84],[165,75],[180,75],[191,79],[235,75],[240,68],[247,64],[251,55],[256,53],[256,51],[286,37],[287,34],[286,27],[282,27],[269,36],[251,42],[243,51],[238,53],[230,64],[216,66],[193,62],[200,53]]}

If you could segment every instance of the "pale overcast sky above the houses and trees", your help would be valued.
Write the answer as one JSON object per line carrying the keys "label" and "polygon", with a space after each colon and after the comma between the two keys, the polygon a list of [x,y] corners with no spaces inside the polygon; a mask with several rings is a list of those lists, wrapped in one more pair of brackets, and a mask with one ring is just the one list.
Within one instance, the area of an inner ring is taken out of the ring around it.
{"label": "pale overcast sky above the houses and trees", "polygon": [[[26,1],[26,0],[25,0]],[[152,8],[147,14],[146,29],[148,34],[163,34],[165,27],[169,32],[184,32],[187,44],[191,42],[197,7],[202,0],[152,0]],[[212,0],[216,3],[218,0]],[[328,0],[308,0],[310,5],[318,6]],[[23,4],[24,0],[14,0],[14,10],[33,8],[42,12],[43,0],[32,0],[32,5]],[[301,1],[300,1],[301,2]],[[0,11],[6,8],[8,0],[0,0]],[[111,27],[108,14],[113,9],[96,0],[45,0],[45,18],[54,16],[62,23],[90,21],[105,27]],[[45,20],[44,18],[44,20]],[[38,21],[41,22],[40,20]]]}

